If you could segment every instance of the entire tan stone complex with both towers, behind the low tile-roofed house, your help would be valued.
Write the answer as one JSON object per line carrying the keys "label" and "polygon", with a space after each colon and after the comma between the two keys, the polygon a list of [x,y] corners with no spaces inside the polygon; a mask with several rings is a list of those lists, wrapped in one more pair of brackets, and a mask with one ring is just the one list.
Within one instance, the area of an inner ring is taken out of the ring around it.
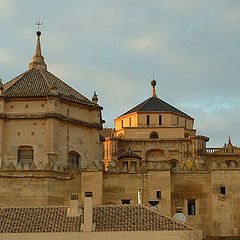
{"label": "entire tan stone complex with both towers, behind the low tile-roofed house", "polygon": [[84,193],[93,192],[95,209],[108,209],[106,216],[125,204],[137,216],[145,207],[136,205],[157,199],[161,214],[182,209],[205,235],[240,235],[240,148],[230,138],[223,148],[207,148],[194,118],[157,97],[155,80],[150,98],[115,119],[115,129],[102,130],[96,93],[91,101],[47,70],[40,35],[29,69],[0,84],[0,217],[46,207],[66,217],[70,195],[82,206]]}

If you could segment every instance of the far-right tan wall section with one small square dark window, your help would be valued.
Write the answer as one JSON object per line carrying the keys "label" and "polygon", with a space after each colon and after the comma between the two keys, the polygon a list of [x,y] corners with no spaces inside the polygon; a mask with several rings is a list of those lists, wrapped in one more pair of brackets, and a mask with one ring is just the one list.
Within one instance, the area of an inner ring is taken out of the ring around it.
{"label": "far-right tan wall section with one small square dark window", "polygon": [[[213,234],[240,235],[240,170],[215,170],[211,172]],[[226,188],[222,195],[220,187]]]}

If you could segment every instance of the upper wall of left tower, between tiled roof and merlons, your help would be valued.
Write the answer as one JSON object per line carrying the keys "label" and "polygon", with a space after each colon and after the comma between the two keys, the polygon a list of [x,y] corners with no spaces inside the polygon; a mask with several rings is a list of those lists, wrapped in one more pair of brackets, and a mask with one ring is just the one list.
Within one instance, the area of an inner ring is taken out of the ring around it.
{"label": "upper wall of left tower, between tiled roof and merlons", "polygon": [[[100,166],[99,129],[88,125],[100,124],[99,109],[49,97],[2,100],[0,113],[6,116],[0,120],[0,163],[16,166],[19,146],[27,145],[33,147],[37,167],[41,163],[67,165],[69,151],[80,155],[82,167]],[[46,118],[44,114],[49,113],[65,119]]]}

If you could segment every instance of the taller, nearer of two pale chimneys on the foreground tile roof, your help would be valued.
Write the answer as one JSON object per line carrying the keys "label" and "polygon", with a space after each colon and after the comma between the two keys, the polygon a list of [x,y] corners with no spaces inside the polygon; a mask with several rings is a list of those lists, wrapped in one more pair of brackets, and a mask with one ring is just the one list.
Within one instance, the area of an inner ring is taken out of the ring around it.
{"label": "taller, nearer of two pale chimneys on the foreground tile roof", "polygon": [[93,230],[93,193],[85,192],[84,198],[84,221],[82,225],[84,232]]}

